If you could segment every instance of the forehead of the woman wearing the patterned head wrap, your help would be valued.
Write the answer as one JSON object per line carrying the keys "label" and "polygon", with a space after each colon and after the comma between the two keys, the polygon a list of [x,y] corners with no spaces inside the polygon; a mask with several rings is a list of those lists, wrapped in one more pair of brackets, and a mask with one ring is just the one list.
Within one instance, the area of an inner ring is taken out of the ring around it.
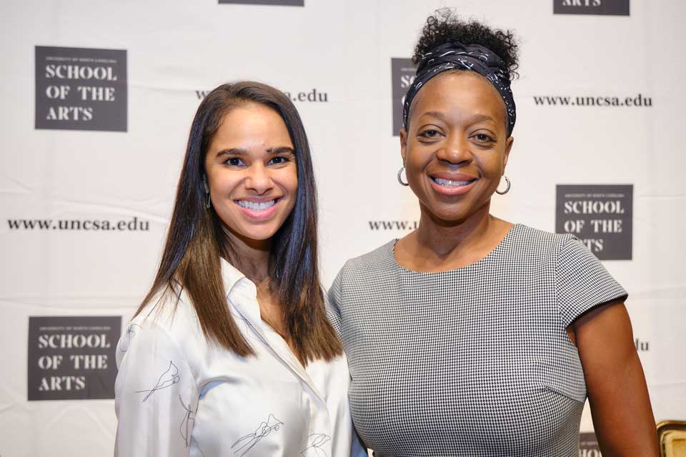
{"label": "forehead of the woman wearing the patterned head wrap", "polygon": [[412,101],[411,119],[439,111],[457,119],[474,114],[505,121],[505,104],[497,89],[474,71],[447,71],[429,79]]}

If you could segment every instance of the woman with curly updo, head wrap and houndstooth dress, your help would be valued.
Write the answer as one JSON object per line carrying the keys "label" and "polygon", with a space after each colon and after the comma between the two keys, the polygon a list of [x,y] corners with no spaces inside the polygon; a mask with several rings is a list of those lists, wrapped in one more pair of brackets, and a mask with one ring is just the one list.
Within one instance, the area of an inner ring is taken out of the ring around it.
{"label": "woman with curly updo, head wrap and houndstooth dress", "polygon": [[489,214],[510,187],[512,34],[439,11],[414,63],[398,179],[419,227],[329,291],[359,436],[377,457],[572,457],[589,398],[603,456],[657,456],[624,288],[575,236]]}

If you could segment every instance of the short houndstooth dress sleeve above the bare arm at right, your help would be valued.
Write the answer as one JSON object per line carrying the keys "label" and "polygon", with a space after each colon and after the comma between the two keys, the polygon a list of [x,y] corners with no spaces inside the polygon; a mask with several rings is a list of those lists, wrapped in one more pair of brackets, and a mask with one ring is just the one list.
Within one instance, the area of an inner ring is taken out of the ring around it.
{"label": "short houndstooth dress sleeve above the bare arm at right", "polygon": [[555,268],[555,289],[565,328],[595,306],[627,298],[620,283],[576,237],[562,246]]}

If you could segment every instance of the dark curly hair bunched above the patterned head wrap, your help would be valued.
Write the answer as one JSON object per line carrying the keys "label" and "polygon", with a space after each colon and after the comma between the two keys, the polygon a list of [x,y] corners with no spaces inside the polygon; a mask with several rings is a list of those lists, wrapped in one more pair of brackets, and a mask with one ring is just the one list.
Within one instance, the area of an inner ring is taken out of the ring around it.
{"label": "dark curly hair bunched above the patterned head wrap", "polygon": [[474,20],[463,21],[449,8],[438,9],[424,24],[412,62],[419,64],[422,56],[444,43],[479,44],[493,51],[505,64],[510,81],[517,74],[517,40],[510,30],[491,29]]}

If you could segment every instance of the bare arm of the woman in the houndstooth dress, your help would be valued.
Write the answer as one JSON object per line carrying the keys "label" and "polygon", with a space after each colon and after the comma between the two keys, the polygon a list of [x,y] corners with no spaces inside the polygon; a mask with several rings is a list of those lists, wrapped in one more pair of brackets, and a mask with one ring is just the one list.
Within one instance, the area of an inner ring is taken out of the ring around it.
{"label": "bare arm of the woman in the houndstooth dress", "polygon": [[567,333],[579,350],[604,457],[657,457],[657,431],[624,303],[597,306]]}

